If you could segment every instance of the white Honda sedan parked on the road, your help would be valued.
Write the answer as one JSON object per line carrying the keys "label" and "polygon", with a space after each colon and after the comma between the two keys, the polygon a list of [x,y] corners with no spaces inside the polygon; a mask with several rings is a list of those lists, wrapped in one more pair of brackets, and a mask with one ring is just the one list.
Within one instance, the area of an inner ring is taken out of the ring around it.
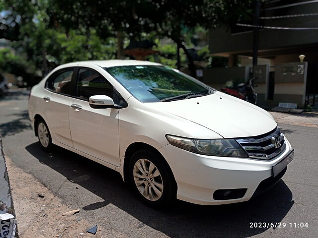
{"label": "white Honda sedan parked on the road", "polygon": [[118,171],[151,206],[249,200],[293,150],[269,113],[159,63],[82,61],[32,88],[29,117],[53,144]]}

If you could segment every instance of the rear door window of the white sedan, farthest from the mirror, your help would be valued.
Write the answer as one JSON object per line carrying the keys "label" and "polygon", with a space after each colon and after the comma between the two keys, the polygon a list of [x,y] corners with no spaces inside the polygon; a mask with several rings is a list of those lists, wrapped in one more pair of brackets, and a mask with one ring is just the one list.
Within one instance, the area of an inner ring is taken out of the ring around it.
{"label": "rear door window of the white sedan, farthest from the mirror", "polygon": [[73,68],[54,73],[47,81],[46,87],[51,91],[70,94]]}

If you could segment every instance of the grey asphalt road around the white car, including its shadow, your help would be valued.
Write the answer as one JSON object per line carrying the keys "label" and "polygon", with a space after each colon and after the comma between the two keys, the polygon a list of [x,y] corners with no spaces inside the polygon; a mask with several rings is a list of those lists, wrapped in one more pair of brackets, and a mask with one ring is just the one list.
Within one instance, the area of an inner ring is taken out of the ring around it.
{"label": "grey asphalt road around the white car, including its shadow", "polygon": [[[92,224],[134,238],[318,237],[318,128],[280,124],[295,158],[283,179],[262,196],[220,206],[179,201],[173,208],[154,210],[138,200],[119,173],[62,148],[53,154],[41,150],[28,120],[27,95],[0,99],[5,154],[65,204],[82,209],[80,216]],[[254,222],[286,227],[250,228]]]}

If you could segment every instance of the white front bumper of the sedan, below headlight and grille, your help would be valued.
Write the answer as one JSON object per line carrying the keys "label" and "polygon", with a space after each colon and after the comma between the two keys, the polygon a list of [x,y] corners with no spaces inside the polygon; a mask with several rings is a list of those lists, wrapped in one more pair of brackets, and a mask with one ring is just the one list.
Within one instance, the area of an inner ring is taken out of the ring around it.
{"label": "white front bumper of the sedan, below headlight and grille", "polygon": [[[272,166],[278,164],[292,150],[286,137],[285,141],[285,150],[269,161],[199,155],[170,144],[160,148],[159,152],[172,170],[178,186],[178,199],[201,205],[217,205],[247,201],[257,193],[257,187],[264,183],[260,184],[262,181],[267,179],[274,182]],[[282,177],[285,171],[275,177],[276,180]],[[213,198],[214,192],[219,189],[244,188],[246,192],[240,198]]]}

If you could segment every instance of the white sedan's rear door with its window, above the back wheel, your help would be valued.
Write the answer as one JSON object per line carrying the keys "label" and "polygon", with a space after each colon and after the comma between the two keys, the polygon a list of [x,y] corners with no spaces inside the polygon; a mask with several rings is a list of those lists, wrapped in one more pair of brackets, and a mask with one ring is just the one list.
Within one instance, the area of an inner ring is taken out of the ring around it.
{"label": "white sedan's rear door with its window, above the back wheel", "polygon": [[53,73],[45,83],[43,108],[52,136],[60,143],[73,147],[69,108],[72,98],[72,78],[75,68],[63,68]]}

